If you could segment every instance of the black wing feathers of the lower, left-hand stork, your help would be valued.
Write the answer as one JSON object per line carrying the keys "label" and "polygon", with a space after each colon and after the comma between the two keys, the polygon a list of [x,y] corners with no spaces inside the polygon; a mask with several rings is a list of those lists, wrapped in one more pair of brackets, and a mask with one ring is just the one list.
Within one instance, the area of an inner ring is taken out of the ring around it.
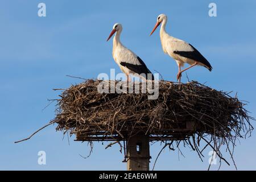
{"label": "black wing feathers of the lower, left-hand stork", "polygon": [[138,73],[139,75],[141,74],[145,74],[146,75],[146,79],[147,79],[147,74],[151,74],[152,75],[152,80],[154,80],[154,76],[153,74],[150,72],[150,70],[147,68],[146,64],[142,61],[142,59],[137,56],[137,59],[139,60],[139,63],[141,63],[141,65],[137,65],[137,64],[130,64],[130,63],[126,63],[125,61],[121,61],[121,65],[123,67],[126,67],[128,69],[130,69],[131,71]]}

